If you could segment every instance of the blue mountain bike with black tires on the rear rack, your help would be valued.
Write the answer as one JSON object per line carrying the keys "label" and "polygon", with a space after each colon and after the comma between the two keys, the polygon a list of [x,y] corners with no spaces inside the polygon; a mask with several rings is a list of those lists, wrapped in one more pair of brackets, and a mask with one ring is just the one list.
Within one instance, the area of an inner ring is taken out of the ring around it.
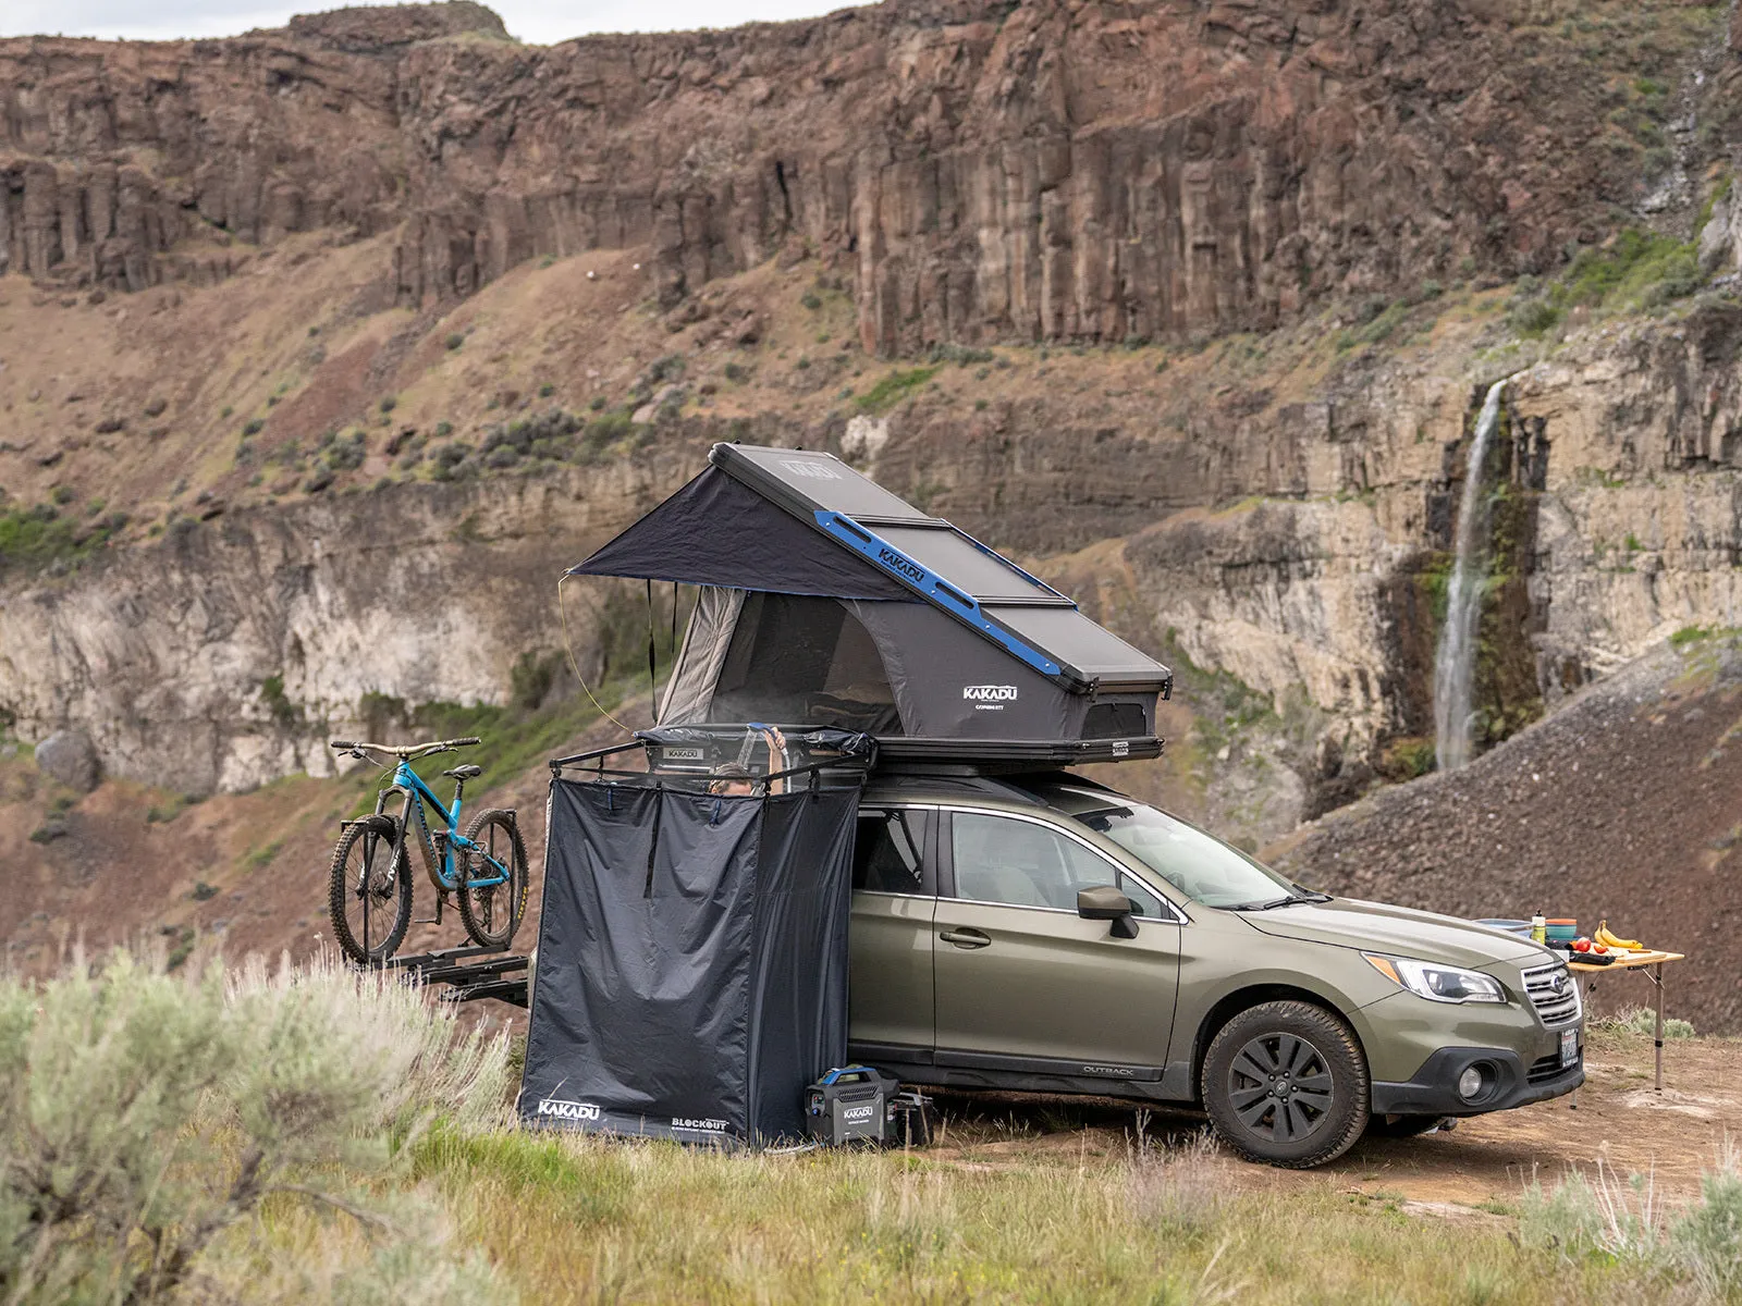
{"label": "blue mountain bike with black tires on the rear rack", "polygon": [[[453,780],[453,806],[442,806],[436,791],[411,770],[411,763],[437,752],[479,744],[476,737],[437,740],[434,744],[364,744],[336,738],[331,747],[352,757],[383,766],[392,777],[375,796],[375,813],[343,822],[333,848],[333,881],[327,907],[333,933],[345,954],[359,965],[385,961],[406,937],[411,925],[411,855],[416,843],[423,869],[436,886],[436,925],[449,895],[460,907],[460,921],[481,947],[507,947],[526,914],[526,846],[521,843],[519,818],[509,808],[479,811],[460,834],[460,794],[465,782],[483,775],[479,766],[455,766],[442,771]],[[380,754],[380,756],[375,756]],[[381,757],[394,761],[383,763]],[[397,815],[387,810],[402,798]],[[423,806],[441,820],[430,831]]]}

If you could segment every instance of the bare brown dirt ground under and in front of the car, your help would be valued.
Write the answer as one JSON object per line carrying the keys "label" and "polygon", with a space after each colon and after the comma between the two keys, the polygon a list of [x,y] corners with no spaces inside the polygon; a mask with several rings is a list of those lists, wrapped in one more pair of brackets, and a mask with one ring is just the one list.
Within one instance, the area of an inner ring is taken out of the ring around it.
{"label": "bare brown dirt ground under and in front of the car", "polygon": [[[1242,1191],[1329,1184],[1406,1210],[1451,1219],[1489,1219],[1514,1207],[1538,1179],[1545,1188],[1570,1170],[1594,1177],[1648,1175],[1657,1193],[1681,1203],[1698,1193],[1700,1172],[1742,1137],[1742,1040],[1688,1038],[1664,1047],[1664,1092],[1651,1087],[1651,1040],[1594,1031],[1585,1087],[1575,1099],[1460,1120],[1451,1132],[1416,1139],[1364,1137],[1320,1170],[1273,1170],[1218,1155],[1212,1165]],[[1111,1101],[1073,1106],[995,1095],[939,1094],[944,1127],[927,1156],[976,1167],[1071,1163],[1124,1156],[1138,1146],[1136,1116]],[[1153,1111],[1146,1135],[1179,1141],[1202,1116]]]}

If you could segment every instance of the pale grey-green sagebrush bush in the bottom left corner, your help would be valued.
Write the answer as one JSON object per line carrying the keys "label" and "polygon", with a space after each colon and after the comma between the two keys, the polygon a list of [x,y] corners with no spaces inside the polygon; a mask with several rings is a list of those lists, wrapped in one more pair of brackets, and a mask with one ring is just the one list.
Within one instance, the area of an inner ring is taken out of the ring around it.
{"label": "pale grey-green sagebrush bush in the bottom left corner", "polygon": [[[0,977],[0,1299],[381,1299],[408,1256],[455,1301],[500,1297],[439,1217],[378,1208],[368,1181],[439,1111],[500,1113],[507,1043],[336,965],[169,972],[115,953],[45,984]],[[404,1205],[404,1203],[401,1203]],[[319,1285],[279,1273],[265,1215],[361,1242]],[[397,1250],[395,1250],[397,1249]],[[275,1285],[275,1287],[273,1287]],[[427,1292],[418,1294],[429,1299]]]}

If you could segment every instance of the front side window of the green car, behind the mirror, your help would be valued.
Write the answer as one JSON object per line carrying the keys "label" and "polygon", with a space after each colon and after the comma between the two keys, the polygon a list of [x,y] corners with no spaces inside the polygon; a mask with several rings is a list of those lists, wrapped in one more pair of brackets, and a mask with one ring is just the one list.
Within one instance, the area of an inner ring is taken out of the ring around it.
{"label": "front side window of the green car, behind the mirror", "polygon": [[1160,900],[1136,876],[1045,825],[979,811],[949,824],[956,897],[1010,907],[1077,911],[1077,892],[1117,885],[1136,916],[1164,916]]}

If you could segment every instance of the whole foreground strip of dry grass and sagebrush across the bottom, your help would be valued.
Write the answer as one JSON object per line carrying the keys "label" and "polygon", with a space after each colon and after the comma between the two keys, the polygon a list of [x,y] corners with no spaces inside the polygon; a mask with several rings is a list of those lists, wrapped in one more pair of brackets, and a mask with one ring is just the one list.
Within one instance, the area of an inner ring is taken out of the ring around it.
{"label": "whole foreground strip of dry grass and sagebrush across the bottom", "polygon": [[[1742,1290],[1733,1153],[1686,1208],[1599,1167],[1594,1186],[1521,1191],[1517,1219],[1235,1167],[1205,1135],[1157,1142],[1143,1120],[1118,1144],[1066,1107],[965,1106],[915,1153],[719,1155],[514,1128],[502,1040],[331,966],[165,977],[120,958],[42,986],[0,977],[0,1235],[28,1233],[45,1191],[75,1203],[40,1256],[0,1259],[7,1299],[1547,1306]],[[101,1182],[35,1188],[51,1151]],[[249,1153],[265,1163],[239,1202]],[[155,1290],[152,1240],[206,1219],[218,1236]]]}

